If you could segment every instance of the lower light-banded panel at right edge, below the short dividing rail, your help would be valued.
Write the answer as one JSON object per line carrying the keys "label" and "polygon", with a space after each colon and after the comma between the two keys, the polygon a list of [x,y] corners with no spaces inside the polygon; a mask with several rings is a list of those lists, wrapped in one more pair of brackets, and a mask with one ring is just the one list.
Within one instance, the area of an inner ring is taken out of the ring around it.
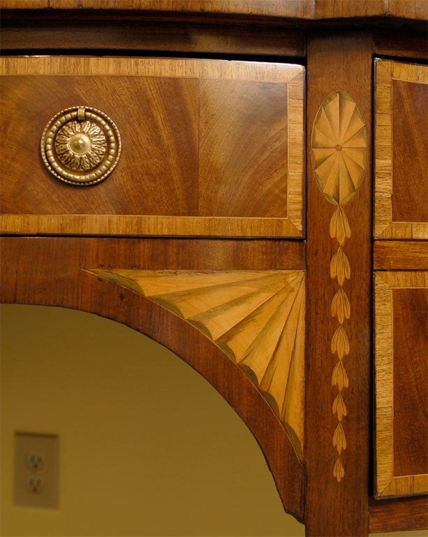
{"label": "lower light-banded panel at right edge, below the short dividing rail", "polygon": [[375,275],[376,496],[428,491],[428,273]]}

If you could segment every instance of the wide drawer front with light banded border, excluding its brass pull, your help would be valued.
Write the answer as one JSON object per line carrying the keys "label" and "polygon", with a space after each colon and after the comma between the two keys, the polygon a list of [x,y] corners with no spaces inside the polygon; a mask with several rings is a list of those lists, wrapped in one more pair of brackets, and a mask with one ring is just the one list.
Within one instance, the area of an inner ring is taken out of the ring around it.
{"label": "wide drawer front with light banded border, excluding its brass pull", "polygon": [[[1,213],[10,233],[303,235],[304,68],[195,59],[1,59]],[[121,157],[98,185],[40,157],[52,116],[101,110]]]}

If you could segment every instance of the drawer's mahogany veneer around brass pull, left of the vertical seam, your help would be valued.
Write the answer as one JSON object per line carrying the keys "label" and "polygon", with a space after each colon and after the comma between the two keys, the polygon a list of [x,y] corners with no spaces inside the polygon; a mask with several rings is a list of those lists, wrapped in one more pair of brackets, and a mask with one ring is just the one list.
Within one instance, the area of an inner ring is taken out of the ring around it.
{"label": "drawer's mahogany veneer around brass pull, left of the vertical seam", "polygon": [[[1,157],[2,213],[197,213],[195,80],[5,76],[1,84],[2,108],[8,110],[1,115],[3,143],[7,140],[8,144]],[[39,150],[40,136],[50,118],[64,108],[80,105],[112,117],[123,147],[114,175],[84,189],[54,178]]]}

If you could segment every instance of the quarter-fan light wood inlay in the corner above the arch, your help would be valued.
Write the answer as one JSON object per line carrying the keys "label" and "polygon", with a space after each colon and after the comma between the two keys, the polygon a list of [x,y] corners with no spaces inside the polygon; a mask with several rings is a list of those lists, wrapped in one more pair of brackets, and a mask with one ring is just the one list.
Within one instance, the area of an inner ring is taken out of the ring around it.
{"label": "quarter-fan light wood inlay in the corner above the arch", "polygon": [[304,271],[92,271],[193,324],[258,387],[302,459]]}

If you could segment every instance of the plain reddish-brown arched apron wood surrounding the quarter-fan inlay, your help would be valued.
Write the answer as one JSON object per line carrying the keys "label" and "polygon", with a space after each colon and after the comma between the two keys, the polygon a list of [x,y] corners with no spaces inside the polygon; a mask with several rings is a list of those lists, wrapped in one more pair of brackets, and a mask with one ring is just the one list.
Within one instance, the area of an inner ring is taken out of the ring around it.
{"label": "plain reddish-brown arched apron wood surrounding the quarter-fan inlay", "polygon": [[123,322],[167,346],[207,378],[256,436],[284,508],[302,520],[302,462],[253,382],[191,323],[89,271],[302,269],[302,243],[8,237],[1,238],[0,247],[1,301],[78,308]]}

